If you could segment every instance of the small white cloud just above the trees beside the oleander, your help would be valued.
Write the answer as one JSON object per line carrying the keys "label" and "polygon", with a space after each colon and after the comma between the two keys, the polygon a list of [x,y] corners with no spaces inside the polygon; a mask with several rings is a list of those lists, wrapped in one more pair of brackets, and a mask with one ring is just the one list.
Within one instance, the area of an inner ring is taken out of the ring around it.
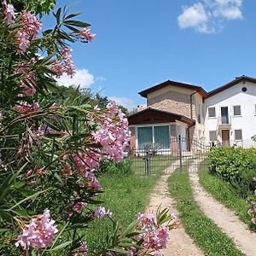
{"label": "small white cloud just above the trees beside the oleander", "polygon": [[94,76],[89,73],[89,71],[85,68],[76,70],[73,78],[64,74],[60,79],[57,79],[57,83],[64,86],[79,86],[80,88],[89,88],[91,84],[94,84],[95,79]]}

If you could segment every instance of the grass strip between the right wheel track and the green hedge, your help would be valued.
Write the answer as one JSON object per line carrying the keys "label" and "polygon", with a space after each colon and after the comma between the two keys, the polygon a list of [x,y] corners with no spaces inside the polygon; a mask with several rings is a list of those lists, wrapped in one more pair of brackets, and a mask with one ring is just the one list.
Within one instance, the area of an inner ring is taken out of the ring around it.
{"label": "grass strip between the right wheel track and the green hedge", "polygon": [[247,214],[250,204],[244,198],[237,195],[234,187],[208,172],[207,166],[201,166],[199,177],[201,186],[206,189],[209,194],[216,200],[222,202],[224,206],[230,208],[242,222],[255,230],[255,226],[253,227],[251,218]]}

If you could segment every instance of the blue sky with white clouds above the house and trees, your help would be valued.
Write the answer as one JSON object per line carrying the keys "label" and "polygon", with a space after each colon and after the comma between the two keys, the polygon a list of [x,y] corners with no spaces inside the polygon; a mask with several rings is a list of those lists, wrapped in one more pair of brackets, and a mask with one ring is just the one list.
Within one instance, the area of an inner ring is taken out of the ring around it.
{"label": "blue sky with white clouds above the house and trees", "polygon": [[[168,79],[212,90],[241,75],[256,78],[255,0],[59,0],[81,11],[96,34],[74,44],[80,84],[126,108],[137,92]],[[44,26],[51,21],[45,19]]]}

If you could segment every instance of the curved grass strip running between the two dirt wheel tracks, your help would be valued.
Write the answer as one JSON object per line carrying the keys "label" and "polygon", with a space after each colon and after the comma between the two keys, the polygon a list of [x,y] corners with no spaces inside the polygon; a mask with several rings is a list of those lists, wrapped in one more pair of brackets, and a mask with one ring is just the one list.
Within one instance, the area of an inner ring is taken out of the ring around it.
{"label": "curved grass strip running between the two dirt wheel tracks", "polygon": [[206,255],[244,255],[196,204],[189,183],[189,172],[174,172],[169,177],[168,183],[170,194],[177,201],[177,210],[180,212],[179,218],[185,231]]}

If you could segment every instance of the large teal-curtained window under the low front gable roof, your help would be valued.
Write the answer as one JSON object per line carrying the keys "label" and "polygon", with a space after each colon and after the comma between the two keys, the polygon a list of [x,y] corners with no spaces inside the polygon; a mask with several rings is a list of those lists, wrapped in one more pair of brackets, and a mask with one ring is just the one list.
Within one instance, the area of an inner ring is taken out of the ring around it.
{"label": "large teal-curtained window under the low front gable roof", "polygon": [[145,149],[152,144],[160,148],[170,148],[169,125],[138,127],[137,144],[139,149]]}

